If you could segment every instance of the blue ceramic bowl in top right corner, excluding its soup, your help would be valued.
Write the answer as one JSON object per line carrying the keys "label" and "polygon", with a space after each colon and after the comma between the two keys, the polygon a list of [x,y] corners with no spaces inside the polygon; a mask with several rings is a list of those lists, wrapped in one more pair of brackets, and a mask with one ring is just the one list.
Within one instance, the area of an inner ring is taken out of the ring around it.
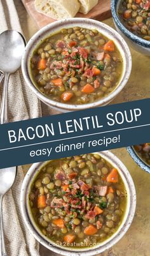
{"label": "blue ceramic bowl in top right corner, excluding its soup", "polygon": [[121,0],[111,0],[111,12],[113,15],[114,25],[116,26],[117,31],[127,43],[137,52],[141,52],[144,55],[150,56],[150,41],[147,41],[139,36],[136,36],[131,31],[126,29],[121,20],[118,17],[118,8]]}

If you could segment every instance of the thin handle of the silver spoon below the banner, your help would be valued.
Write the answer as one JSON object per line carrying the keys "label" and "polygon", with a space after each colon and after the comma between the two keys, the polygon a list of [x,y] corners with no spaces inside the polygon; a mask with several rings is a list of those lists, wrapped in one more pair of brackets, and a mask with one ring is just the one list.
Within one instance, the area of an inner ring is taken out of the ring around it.
{"label": "thin handle of the silver spoon below the banner", "polygon": [[3,196],[0,195],[0,256],[7,256],[4,246],[2,202]]}

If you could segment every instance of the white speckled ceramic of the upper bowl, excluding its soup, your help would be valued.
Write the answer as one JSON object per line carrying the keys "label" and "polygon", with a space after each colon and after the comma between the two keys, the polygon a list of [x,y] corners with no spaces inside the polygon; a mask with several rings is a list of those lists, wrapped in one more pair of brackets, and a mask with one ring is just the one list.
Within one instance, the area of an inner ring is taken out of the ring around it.
{"label": "white speckled ceramic of the upper bowl, excluding its soup", "polygon": [[[83,104],[83,105],[71,105],[67,103],[59,103],[59,102],[50,100],[50,98],[44,96],[44,94],[42,94],[36,88],[36,86],[34,86],[34,82],[31,79],[31,72],[30,72],[31,56],[34,50],[37,48],[37,46],[41,43],[41,41],[43,41],[45,38],[47,38],[51,34],[57,33],[62,28],[75,27],[75,26],[86,27],[87,29],[97,29],[100,33],[104,34],[104,36],[107,36],[107,38],[114,40],[114,43],[118,47],[119,52],[121,53],[121,56],[123,58],[123,72],[116,89],[114,89],[114,91],[111,94],[107,95],[105,98],[102,98],[101,100],[98,100],[97,102]],[[59,110],[61,112],[82,110],[82,109],[88,109],[88,108],[90,109],[93,107],[107,105],[118,95],[118,93],[120,93],[120,91],[126,85],[126,82],[130,77],[131,70],[132,70],[132,57],[130,54],[130,49],[128,48],[128,45],[126,44],[125,40],[123,40],[123,38],[119,35],[119,33],[117,33],[114,29],[112,29],[111,27],[107,26],[102,22],[99,22],[97,20],[92,20],[92,19],[83,19],[83,18],[59,20],[57,22],[51,23],[46,27],[43,27],[38,31],[38,33],[32,36],[31,40],[29,40],[29,42],[27,43],[27,46],[25,47],[24,56],[22,58],[22,73],[24,75],[25,82],[27,82],[27,85],[32,89],[32,91],[36,94],[36,96],[38,96],[38,98],[42,102],[46,103],[46,105],[49,105],[53,109]]]}

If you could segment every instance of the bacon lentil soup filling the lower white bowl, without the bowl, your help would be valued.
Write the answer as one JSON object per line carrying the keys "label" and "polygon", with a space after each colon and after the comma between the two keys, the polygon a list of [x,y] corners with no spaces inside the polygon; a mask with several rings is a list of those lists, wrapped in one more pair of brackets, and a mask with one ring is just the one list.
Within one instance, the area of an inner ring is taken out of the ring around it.
{"label": "bacon lentil soup filling the lower white bowl, without the bowl", "polygon": [[125,215],[126,200],[118,170],[99,154],[46,163],[29,194],[32,216],[44,236],[74,248],[112,236]]}

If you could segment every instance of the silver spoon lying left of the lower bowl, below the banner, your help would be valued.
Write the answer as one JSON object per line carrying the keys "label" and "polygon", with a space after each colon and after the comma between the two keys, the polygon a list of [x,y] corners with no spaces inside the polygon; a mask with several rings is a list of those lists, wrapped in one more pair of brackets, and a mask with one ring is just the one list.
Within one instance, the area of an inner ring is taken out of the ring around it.
{"label": "silver spoon lying left of the lower bowl, below the banner", "polygon": [[3,212],[2,202],[3,196],[8,190],[10,190],[12,184],[15,181],[17,174],[17,167],[10,167],[6,169],[0,169],[0,256],[7,256],[5,245],[4,245],[4,234],[3,234]]}

